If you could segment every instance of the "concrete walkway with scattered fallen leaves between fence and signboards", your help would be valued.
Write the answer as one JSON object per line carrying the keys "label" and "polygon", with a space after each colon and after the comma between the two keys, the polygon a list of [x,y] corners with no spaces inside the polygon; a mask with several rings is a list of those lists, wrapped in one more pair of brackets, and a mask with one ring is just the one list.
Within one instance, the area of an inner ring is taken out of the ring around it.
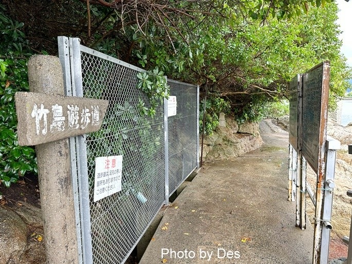
{"label": "concrete walkway with scattered fallen leaves between fence and signboards", "polygon": [[287,201],[288,134],[270,121],[261,133],[260,149],[203,165],[166,210],[140,264],[311,263],[313,230],[295,228]]}

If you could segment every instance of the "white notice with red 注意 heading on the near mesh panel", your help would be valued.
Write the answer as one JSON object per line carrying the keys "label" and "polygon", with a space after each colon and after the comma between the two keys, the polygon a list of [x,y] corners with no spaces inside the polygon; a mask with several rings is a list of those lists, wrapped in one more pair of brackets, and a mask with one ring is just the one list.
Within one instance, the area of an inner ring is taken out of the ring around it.
{"label": "white notice with red \u6ce8\u610f heading on the near mesh panel", "polygon": [[97,157],[94,180],[94,201],[121,191],[122,155]]}

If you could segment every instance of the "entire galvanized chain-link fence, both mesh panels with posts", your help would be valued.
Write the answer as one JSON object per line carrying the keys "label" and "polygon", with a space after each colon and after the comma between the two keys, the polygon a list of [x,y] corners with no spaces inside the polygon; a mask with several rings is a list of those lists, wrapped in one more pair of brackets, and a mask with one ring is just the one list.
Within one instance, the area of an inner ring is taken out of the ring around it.
{"label": "entire galvanized chain-link fence, both mesh panels with posts", "polygon": [[[109,100],[102,128],[70,139],[80,262],[123,263],[168,204],[169,186],[176,190],[198,165],[199,87],[170,80],[177,115],[167,118],[165,100],[149,117],[140,114],[140,100],[146,106],[149,100],[136,88],[142,69],[76,38],[60,36],[59,55],[68,96]],[[117,155],[123,156],[122,190],[94,202],[95,159]]]}

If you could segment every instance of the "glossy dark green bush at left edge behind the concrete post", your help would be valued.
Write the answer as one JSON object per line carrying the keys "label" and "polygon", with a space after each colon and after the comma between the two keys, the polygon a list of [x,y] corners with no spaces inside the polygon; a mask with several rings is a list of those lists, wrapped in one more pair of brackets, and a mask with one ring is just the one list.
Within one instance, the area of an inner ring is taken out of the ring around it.
{"label": "glossy dark green bush at left edge behind the concrete post", "polygon": [[16,91],[28,91],[27,61],[31,55],[21,31],[0,5],[0,183],[7,187],[26,173],[36,173],[35,151],[17,142]]}

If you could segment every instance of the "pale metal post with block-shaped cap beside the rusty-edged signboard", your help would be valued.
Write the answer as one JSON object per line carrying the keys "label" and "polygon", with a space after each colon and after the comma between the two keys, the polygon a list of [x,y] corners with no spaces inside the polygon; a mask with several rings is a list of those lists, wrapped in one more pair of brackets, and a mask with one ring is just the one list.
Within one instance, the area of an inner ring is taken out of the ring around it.
{"label": "pale metal post with block-shaped cap beside the rusty-edged signboard", "polygon": [[335,178],[335,163],[336,150],[340,149],[340,142],[331,137],[326,140],[326,163],[325,163],[325,180],[324,180],[324,201],[322,214],[322,238],[320,250],[320,263],[328,263],[329,258],[329,242],[332,215],[332,198],[334,196],[334,178]]}

